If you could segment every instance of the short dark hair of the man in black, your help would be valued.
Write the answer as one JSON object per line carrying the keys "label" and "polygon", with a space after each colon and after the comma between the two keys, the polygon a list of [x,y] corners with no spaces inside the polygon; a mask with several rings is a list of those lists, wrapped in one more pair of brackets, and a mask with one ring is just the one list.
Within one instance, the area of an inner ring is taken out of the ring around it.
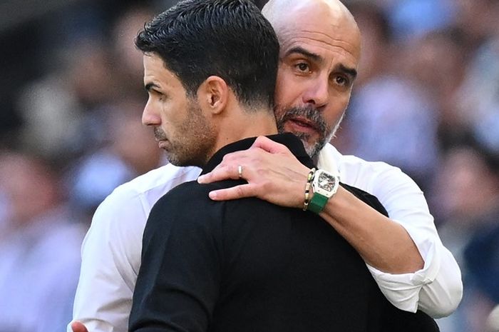
{"label": "short dark hair of the man in black", "polygon": [[215,75],[247,106],[274,104],[279,43],[252,1],[180,1],[145,24],[135,45],[158,54],[188,96]]}

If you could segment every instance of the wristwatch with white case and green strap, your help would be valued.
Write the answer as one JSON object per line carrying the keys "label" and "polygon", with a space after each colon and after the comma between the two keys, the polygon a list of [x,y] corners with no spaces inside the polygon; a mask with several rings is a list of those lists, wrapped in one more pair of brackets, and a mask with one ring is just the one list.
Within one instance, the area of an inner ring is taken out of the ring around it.
{"label": "wristwatch with white case and green strap", "polygon": [[336,174],[317,170],[312,180],[314,195],[309,202],[309,210],[314,213],[322,211],[327,201],[338,191],[339,177]]}

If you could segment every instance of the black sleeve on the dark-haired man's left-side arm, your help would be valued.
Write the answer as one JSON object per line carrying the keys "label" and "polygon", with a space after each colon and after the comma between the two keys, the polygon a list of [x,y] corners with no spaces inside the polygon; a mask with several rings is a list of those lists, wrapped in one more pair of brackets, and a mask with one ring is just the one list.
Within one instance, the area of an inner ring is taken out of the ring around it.
{"label": "black sleeve on the dark-haired man's left-side arm", "polygon": [[190,193],[195,208],[189,208],[174,189],[150,213],[131,332],[201,332],[210,326],[220,285],[220,231],[216,218],[192,201],[197,196],[207,193]]}

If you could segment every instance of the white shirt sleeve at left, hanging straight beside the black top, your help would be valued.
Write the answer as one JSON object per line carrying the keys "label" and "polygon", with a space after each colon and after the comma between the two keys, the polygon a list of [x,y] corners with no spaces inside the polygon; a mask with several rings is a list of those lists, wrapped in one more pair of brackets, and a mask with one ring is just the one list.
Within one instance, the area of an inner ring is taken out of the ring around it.
{"label": "white shirt sleeve at left, hanging straight beside the black top", "polygon": [[94,214],[81,248],[73,306],[73,320],[88,331],[127,331],[146,218],[138,196],[119,188]]}

